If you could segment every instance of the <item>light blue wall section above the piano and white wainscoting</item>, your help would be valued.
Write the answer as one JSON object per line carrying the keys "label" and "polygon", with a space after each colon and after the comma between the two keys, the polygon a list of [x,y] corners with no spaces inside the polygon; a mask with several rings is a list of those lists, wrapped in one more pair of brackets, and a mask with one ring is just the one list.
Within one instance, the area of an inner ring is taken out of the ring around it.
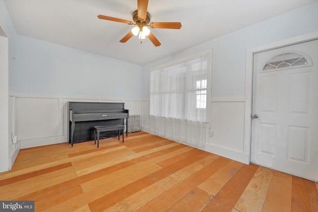
{"label": "light blue wall section above the piano and white wainscoting", "polygon": [[141,99],[138,65],[18,36],[20,94]]}

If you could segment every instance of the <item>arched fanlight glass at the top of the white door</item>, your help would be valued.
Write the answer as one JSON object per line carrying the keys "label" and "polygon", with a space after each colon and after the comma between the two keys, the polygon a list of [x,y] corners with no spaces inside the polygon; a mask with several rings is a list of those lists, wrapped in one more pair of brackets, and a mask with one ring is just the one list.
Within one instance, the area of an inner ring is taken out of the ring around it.
{"label": "arched fanlight glass at the top of the white door", "polygon": [[276,71],[312,66],[312,60],[303,52],[283,52],[272,56],[263,66],[262,71]]}

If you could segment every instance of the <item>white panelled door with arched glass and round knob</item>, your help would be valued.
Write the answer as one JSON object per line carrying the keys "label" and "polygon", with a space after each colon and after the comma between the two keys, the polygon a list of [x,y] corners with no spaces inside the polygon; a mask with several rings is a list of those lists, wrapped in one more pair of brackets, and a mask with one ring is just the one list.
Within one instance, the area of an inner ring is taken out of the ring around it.
{"label": "white panelled door with arched glass and round knob", "polygon": [[318,181],[318,40],[254,55],[251,162]]}

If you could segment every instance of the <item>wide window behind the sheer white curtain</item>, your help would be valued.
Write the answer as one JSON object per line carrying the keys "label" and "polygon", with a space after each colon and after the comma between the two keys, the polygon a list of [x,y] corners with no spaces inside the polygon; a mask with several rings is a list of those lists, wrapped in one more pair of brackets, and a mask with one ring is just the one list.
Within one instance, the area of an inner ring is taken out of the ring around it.
{"label": "wide window behind the sheer white curtain", "polygon": [[205,121],[207,55],[150,72],[150,115]]}

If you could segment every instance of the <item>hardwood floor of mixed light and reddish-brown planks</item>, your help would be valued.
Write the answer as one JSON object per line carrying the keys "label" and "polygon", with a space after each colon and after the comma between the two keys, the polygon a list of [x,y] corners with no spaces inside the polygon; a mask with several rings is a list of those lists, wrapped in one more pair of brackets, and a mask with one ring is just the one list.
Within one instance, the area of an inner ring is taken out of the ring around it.
{"label": "hardwood floor of mixed light and reddish-brown planks", "polygon": [[318,212],[318,184],[144,132],[22,149],[0,200],[48,212]]}

